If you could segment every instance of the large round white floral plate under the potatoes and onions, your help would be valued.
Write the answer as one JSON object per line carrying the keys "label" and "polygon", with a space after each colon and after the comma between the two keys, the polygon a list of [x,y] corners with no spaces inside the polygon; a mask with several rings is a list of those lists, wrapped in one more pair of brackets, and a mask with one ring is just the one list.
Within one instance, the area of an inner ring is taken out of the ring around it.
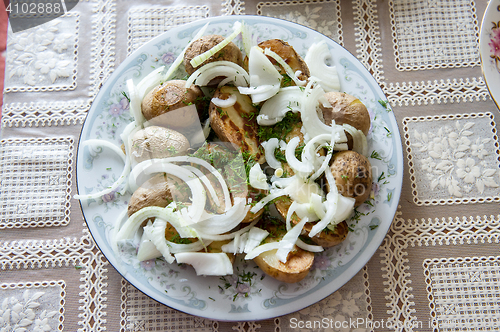
{"label": "large round white floral plate under the potatoes and onions", "polygon": [[[258,16],[198,21],[169,30],[142,46],[102,87],[85,121],[80,142],[99,138],[120,145],[119,134],[131,121],[128,103],[122,94],[126,91],[126,80],[132,78],[137,83],[153,68],[169,65],[207,22],[210,25],[206,34],[228,35],[236,20],[249,24],[259,41],[280,38],[302,56],[315,40],[326,40],[334,55],[343,91],[358,97],[372,116],[373,127],[368,139],[375,198],[371,205],[359,208],[359,219],[349,222],[352,231],[347,239],[316,254],[313,269],[296,284],[285,284],[266,276],[252,261],[237,260],[236,273],[232,276],[198,277],[189,266],[169,265],[163,260],[138,262],[133,244],[122,247],[121,257],[115,257],[109,245],[110,231],[117,215],[126,208],[130,194],[121,196],[115,192],[99,200],[81,203],[95,242],[126,280],[172,308],[222,321],[261,320],[292,313],[320,301],[344,285],[368,262],[386,235],[398,206],[403,176],[397,122],[392,111],[379,102],[386,97],[365,67],[343,47],[314,30]],[[102,190],[118,178],[122,168],[122,161],[114,153],[80,147],[78,192],[87,194]]]}

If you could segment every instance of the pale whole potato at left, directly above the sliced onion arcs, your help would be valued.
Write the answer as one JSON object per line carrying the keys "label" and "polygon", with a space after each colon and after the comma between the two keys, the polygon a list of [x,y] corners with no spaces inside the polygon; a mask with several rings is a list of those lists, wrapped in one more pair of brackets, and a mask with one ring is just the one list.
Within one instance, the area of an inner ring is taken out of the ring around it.
{"label": "pale whole potato at left, directly above the sliced onion arcs", "polygon": [[135,161],[141,162],[182,155],[189,148],[188,139],[181,133],[165,127],[150,126],[135,133],[130,154]]}

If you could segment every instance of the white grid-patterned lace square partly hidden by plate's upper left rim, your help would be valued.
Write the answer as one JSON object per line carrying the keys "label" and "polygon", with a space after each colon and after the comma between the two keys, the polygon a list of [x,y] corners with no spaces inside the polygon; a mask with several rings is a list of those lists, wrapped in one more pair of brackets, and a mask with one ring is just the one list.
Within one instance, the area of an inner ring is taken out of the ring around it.
{"label": "white grid-patterned lace square partly hidden by plate's upper left rim", "polygon": [[128,15],[128,54],[175,26],[208,17],[209,11],[208,6],[132,8]]}

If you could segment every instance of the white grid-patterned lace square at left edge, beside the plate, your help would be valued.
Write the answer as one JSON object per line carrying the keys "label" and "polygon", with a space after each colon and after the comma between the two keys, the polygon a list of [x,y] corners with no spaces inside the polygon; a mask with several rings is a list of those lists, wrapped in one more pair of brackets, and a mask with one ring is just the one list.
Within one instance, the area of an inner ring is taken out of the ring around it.
{"label": "white grid-patterned lace square at left edge, beside the plate", "polygon": [[73,138],[0,141],[0,229],[69,223]]}

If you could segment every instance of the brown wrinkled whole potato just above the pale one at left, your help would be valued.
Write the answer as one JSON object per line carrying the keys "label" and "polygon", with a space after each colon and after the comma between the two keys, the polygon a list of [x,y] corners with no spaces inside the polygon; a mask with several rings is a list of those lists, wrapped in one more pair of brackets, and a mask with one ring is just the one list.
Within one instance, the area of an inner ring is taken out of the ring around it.
{"label": "brown wrinkled whole potato just above the pale one at left", "polygon": [[158,85],[146,94],[142,100],[142,114],[146,120],[152,120],[163,114],[195,105],[197,114],[176,112],[172,123],[164,123],[169,128],[189,127],[193,122],[200,121],[205,112],[203,91],[198,86],[192,85],[186,89],[186,81],[172,80]]}

